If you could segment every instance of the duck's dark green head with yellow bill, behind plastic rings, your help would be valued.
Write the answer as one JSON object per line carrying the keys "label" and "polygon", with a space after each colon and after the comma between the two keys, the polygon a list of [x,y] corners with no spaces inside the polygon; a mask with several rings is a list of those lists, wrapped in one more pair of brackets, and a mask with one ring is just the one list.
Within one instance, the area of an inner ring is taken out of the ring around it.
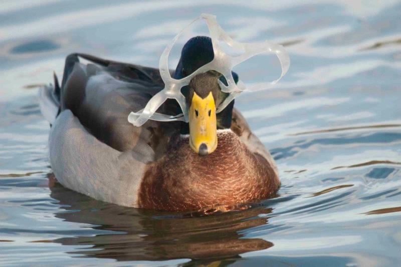
{"label": "duck's dark green head with yellow bill, behind plastic rings", "polygon": [[[212,40],[209,37],[191,38],[182,48],[174,78],[182,79],[190,75],[213,58]],[[237,74],[233,73],[233,78],[237,83]],[[189,122],[183,126],[181,133],[189,133],[189,146],[201,156],[216,150],[217,130],[231,126],[234,101],[216,114],[217,108],[229,95],[221,91],[219,80],[227,84],[224,76],[211,70],[194,76],[189,85],[181,89],[189,107]]]}

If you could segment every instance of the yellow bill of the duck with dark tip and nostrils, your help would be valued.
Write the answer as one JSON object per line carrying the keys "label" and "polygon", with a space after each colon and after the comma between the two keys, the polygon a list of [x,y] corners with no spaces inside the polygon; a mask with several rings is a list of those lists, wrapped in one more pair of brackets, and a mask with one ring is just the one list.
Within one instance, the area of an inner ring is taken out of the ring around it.
{"label": "yellow bill of the duck with dark tip and nostrils", "polygon": [[189,146],[200,156],[217,148],[216,104],[212,92],[204,99],[193,92],[189,107]]}

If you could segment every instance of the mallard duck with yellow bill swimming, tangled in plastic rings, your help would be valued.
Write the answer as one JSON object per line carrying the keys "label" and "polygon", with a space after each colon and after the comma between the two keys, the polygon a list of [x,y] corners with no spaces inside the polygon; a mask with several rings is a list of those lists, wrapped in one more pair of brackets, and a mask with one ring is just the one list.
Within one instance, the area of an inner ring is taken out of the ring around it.
{"label": "mallard duck with yellow bill swimming, tangled in plastic rings", "polygon": [[[209,37],[189,39],[174,79],[214,58]],[[235,82],[239,80],[232,73]],[[57,181],[94,199],[160,211],[191,211],[251,203],[276,195],[280,187],[274,159],[251,131],[220,73],[209,70],[181,88],[189,121],[148,120],[130,124],[160,90],[159,70],[88,54],[67,56],[61,85],[40,90],[40,107],[50,122],[49,159]],[[158,112],[175,115],[168,99]]]}

